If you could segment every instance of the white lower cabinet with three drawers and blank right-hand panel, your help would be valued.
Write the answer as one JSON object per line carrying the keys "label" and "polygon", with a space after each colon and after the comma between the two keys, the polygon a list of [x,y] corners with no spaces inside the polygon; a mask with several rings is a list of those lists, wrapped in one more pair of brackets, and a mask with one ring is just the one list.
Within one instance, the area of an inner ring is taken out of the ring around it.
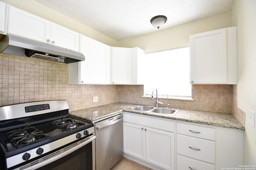
{"label": "white lower cabinet with three drawers and blank right-hand panel", "polygon": [[176,122],[176,170],[220,170],[242,165],[243,130]]}

